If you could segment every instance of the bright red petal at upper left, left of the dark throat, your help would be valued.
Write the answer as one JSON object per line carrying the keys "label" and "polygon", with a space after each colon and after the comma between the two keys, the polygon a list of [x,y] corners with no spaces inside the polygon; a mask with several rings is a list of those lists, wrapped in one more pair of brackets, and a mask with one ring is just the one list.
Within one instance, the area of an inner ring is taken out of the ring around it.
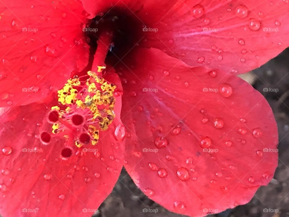
{"label": "bright red petal at upper left, left of the dark throat", "polygon": [[82,11],[77,0],[0,2],[0,106],[45,98],[84,68]]}

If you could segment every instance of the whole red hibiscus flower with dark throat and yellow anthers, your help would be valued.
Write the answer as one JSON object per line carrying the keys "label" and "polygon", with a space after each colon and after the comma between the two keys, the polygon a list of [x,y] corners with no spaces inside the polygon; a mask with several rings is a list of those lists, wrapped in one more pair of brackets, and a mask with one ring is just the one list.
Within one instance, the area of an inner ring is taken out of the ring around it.
{"label": "whole red hibiscus flower with dark throat and yellow anthers", "polygon": [[287,1],[0,1],[0,212],[90,216],[124,166],[166,209],[245,204],[277,126],[236,74],[287,46]]}

